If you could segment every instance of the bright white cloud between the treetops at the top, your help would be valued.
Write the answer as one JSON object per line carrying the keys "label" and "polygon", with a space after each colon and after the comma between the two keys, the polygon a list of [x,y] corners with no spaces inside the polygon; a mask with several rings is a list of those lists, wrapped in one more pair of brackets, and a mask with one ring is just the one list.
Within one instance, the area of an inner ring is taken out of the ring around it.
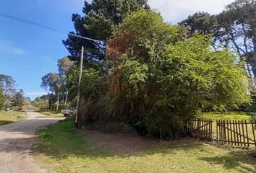
{"label": "bright white cloud between the treetops at the top", "polygon": [[195,12],[218,14],[234,0],[148,0],[152,9],[161,12],[167,22],[176,24]]}

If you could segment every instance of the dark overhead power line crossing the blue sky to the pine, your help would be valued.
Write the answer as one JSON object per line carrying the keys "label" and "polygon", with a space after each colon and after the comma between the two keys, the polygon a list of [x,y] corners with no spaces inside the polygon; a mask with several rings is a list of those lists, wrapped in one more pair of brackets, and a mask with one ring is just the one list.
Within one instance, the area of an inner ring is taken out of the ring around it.
{"label": "dark overhead power line crossing the blue sky to the pine", "polygon": [[[13,20],[16,20],[16,21],[19,21],[19,22],[24,22],[24,23],[27,23],[27,24],[29,24],[29,25],[34,25],[34,26],[37,26],[37,27],[42,27],[42,28],[45,28],[45,29],[47,29],[47,30],[51,30],[51,31],[54,31],[54,32],[59,32],[59,33],[65,34],[65,35],[67,34],[67,32],[64,32],[63,30],[57,30],[57,29],[55,29],[55,28],[53,28],[53,27],[48,27],[48,26],[46,26],[46,25],[41,25],[41,24],[38,24],[38,23],[36,23],[36,22],[32,22],[32,21],[30,21],[30,20],[22,19],[22,18],[19,18],[19,17],[14,17],[14,16],[12,16],[12,15],[4,14],[4,13],[2,13],[2,12],[0,12],[0,16],[1,16],[1,17],[6,17],[6,18],[8,18],[8,19],[13,19]],[[79,38],[82,38],[82,39],[85,39],[85,40],[94,41],[94,42],[99,42],[99,40],[94,40],[94,39],[89,38],[89,37],[83,37],[83,36],[81,36],[81,35],[76,35],[76,34],[72,34],[72,33],[69,33],[69,34],[67,34],[67,35],[72,36],[72,37],[79,37]]]}

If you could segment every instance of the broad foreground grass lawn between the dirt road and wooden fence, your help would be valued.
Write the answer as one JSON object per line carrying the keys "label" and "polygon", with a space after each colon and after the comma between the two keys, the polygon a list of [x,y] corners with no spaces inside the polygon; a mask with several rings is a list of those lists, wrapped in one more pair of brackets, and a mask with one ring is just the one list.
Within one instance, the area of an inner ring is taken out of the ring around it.
{"label": "broad foreground grass lawn between the dirt road and wooden fence", "polygon": [[113,154],[102,143],[88,143],[82,134],[73,120],[40,130],[35,159],[55,172],[69,173],[255,172],[256,159],[238,148],[185,140],[155,144],[137,154]]}

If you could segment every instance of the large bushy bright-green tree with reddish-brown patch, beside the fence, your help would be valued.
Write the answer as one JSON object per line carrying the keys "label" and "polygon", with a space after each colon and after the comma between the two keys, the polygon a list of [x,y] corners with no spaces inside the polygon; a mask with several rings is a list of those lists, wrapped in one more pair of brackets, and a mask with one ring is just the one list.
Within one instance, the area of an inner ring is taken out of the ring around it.
{"label": "large bushy bright-green tree with reddish-brown patch, beside the fence", "polygon": [[226,48],[213,51],[209,36],[186,33],[152,11],[124,19],[107,47],[111,117],[175,138],[203,107],[249,102],[236,57]]}

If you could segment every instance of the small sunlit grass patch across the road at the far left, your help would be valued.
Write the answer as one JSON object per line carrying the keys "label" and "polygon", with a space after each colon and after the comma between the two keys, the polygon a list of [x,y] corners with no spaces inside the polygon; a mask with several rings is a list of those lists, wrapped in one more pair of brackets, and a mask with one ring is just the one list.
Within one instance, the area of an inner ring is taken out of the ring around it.
{"label": "small sunlit grass patch across the road at the far left", "polygon": [[[22,117],[17,117],[16,115],[21,115]],[[17,112],[17,111],[10,111],[10,112],[0,112],[0,125],[6,125],[9,123],[14,123],[17,121],[25,120],[26,113],[25,112]]]}

